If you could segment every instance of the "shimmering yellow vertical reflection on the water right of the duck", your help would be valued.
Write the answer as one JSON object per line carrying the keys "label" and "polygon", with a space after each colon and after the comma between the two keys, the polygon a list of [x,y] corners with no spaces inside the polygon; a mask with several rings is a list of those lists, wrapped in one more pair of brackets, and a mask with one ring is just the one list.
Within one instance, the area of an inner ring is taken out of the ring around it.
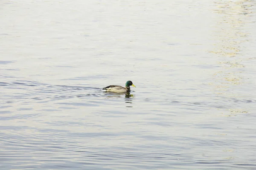
{"label": "shimmering yellow vertical reflection on the water right of the duck", "polygon": [[[209,51],[218,57],[217,65],[220,67],[213,74],[214,93],[226,99],[241,99],[239,90],[244,88],[243,54],[246,50],[245,42],[250,41],[250,29],[252,23],[251,13],[253,1],[216,1],[213,12],[218,16],[213,26],[213,49]],[[221,116],[236,116],[247,113],[241,108],[231,108]]]}

